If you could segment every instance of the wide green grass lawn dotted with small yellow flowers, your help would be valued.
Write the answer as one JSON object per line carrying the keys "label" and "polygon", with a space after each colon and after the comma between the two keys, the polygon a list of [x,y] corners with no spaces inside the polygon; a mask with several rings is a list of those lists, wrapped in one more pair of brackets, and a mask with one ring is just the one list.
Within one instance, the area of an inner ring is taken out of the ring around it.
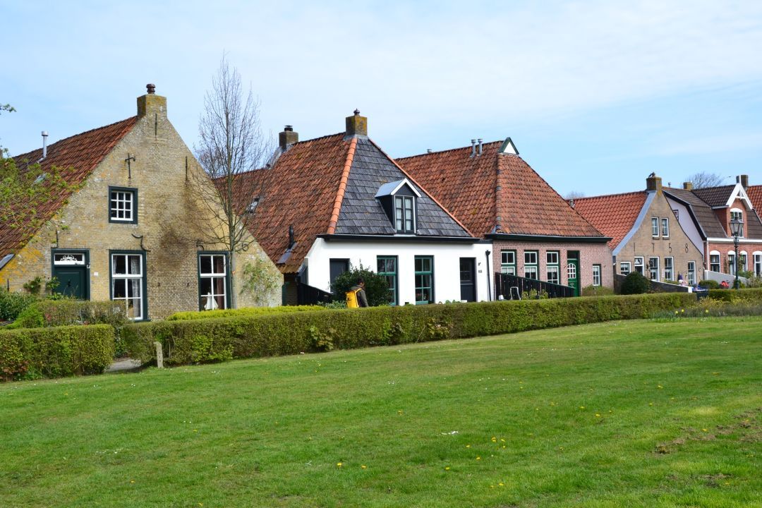
{"label": "wide green grass lawn dotted with small yellow flowers", "polygon": [[762,506],[762,318],[0,385],[0,506]]}

